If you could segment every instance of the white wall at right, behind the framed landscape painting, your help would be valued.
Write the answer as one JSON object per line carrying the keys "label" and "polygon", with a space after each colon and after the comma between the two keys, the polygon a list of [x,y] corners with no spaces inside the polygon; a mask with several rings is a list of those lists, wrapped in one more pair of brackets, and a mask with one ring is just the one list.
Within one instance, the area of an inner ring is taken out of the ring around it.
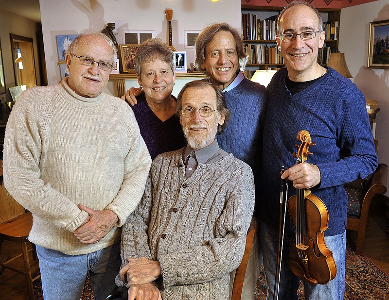
{"label": "white wall at right, behind the framed landscape painting", "polygon": [[379,162],[389,165],[389,69],[367,68],[369,23],[387,19],[388,0],[343,8],[340,14],[339,50],[345,53],[353,82],[366,98],[380,102],[375,138],[379,140]]}

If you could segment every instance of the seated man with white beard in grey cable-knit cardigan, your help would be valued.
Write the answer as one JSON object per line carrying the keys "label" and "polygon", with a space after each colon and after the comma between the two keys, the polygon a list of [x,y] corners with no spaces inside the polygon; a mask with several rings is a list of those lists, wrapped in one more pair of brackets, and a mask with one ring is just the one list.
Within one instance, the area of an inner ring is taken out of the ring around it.
{"label": "seated man with white beard in grey cable-knit cardigan", "polygon": [[129,300],[228,300],[254,209],[253,174],[218,146],[230,119],[218,86],[185,84],[176,111],[188,146],[154,159],[123,228],[116,283]]}

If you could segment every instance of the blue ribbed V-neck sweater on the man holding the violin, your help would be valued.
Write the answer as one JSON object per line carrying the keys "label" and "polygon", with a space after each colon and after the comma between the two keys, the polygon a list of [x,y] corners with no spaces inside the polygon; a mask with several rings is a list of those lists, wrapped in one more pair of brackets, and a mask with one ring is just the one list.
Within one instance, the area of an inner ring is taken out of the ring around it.
{"label": "blue ribbed V-neck sweater on the man holding the violin", "polygon": [[[291,95],[285,87],[286,68],[269,84],[269,102],[264,127],[262,220],[277,226],[280,203],[280,169],[296,164],[292,152],[300,144],[297,134],[307,130],[312,142],[307,162],[319,167],[321,183],[311,188],[329,212],[325,235],[343,233],[347,220],[344,183],[371,174],[378,165],[366,102],[349,79],[334,69],[305,90]],[[296,195],[289,184],[288,198]],[[290,225],[290,224],[289,224]]]}

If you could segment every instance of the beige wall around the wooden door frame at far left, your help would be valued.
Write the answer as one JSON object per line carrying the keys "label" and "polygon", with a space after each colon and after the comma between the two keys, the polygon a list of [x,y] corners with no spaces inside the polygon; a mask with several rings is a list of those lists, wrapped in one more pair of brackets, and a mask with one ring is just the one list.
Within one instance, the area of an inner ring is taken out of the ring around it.
{"label": "beige wall around the wooden door frame at far left", "polygon": [[[35,60],[36,83],[40,85],[38,51],[37,51],[37,41],[36,41],[36,33],[35,33],[36,25],[37,23],[35,23],[34,21],[0,10],[1,50],[2,50],[2,58],[3,58],[5,86],[7,89],[11,86],[16,85],[10,33],[14,33],[26,37],[32,37],[34,39],[34,60]],[[7,92],[6,95],[8,97],[9,93]],[[0,95],[1,100],[2,98],[5,98],[4,94]]]}

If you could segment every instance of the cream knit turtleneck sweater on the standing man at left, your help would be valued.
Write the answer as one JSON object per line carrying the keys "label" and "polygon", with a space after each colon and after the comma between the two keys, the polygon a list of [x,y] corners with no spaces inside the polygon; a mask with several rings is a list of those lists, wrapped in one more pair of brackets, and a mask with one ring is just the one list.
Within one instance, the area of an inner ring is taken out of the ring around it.
{"label": "cream knit turtleneck sweater on the standing man at left", "polygon": [[[66,254],[104,249],[120,239],[144,191],[151,159],[132,109],[105,93],[84,98],[67,84],[27,89],[9,117],[4,183],[34,216],[29,240]],[[119,222],[96,244],[72,233],[95,210]]]}

